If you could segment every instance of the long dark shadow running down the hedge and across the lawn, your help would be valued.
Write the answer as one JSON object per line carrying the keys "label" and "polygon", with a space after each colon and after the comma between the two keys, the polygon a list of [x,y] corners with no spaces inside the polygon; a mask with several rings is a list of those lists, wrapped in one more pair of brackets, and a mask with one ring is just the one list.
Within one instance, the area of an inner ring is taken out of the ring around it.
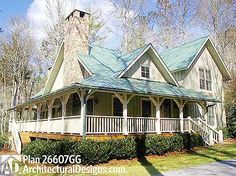
{"label": "long dark shadow running down the hedge and across the lawn", "polygon": [[136,156],[138,158],[138,162],[146,169],[146,171],[150,175],[159,175],[162,176],[161,172],[156,169],[151,162],[147,160],[145,157],[146,153],[146,145],[145,145],[146,136],[141,135],[137,136],[136,141]]}

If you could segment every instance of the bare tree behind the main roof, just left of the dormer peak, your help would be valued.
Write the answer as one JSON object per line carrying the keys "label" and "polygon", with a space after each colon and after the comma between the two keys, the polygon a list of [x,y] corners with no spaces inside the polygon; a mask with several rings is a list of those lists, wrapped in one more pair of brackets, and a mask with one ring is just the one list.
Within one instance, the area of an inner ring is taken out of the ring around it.
{"label": "bare tree behind the main roof, just left of the dormer peak", "polygon": [[114,33],[120,38],[120,49],[130,52],[147,42],[146,35],[151,30],[143,11],[144,0],[110,0],[114,10]]}

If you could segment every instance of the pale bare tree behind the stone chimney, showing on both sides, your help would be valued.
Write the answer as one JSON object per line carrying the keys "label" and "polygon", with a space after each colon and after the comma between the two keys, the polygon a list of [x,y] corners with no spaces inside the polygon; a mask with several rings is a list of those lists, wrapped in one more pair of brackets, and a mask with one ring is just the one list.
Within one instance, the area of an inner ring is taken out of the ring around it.
{"label": "pale bare tree behind the stone chimney, showing on both sides", "polygon": [[[44,23],[47,37],[42,42],[42,52],[45,58],[51,62],[55,59],[55,54],[64,40],[64,24],[66,16],[74,10],[75,0],[47,0],[46,14],[47,22]],[[88,9],[90,12],[90,43],[99,43],[106,38],[101,35],[99,31],[104,26],[103,20],[100,17],[101,12],[97,10]],[[51,63],[52,64],[52,63]]]}

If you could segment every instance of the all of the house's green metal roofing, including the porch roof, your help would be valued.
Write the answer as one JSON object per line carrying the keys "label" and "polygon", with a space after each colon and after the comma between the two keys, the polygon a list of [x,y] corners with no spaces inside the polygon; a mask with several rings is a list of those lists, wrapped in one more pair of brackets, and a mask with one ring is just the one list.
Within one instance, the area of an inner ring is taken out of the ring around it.
{"label": "all of the house's green metal roofing, including the porch roof", "polygon": [[[206,37],[193,42],[183,44],[161,54],[165,64],[173,71],[186,69],[198,53]],[[132,92],[137,94],[149,94],[167,97],[179,97],[191,100],[218,101],[212,96],[203,92],[177,87],[168,83],[158,81],[140,80],[133,78],[118,78],[117,75],[132,63],[147,47],[138,48],[129,54],[122,54],[120,51],[90,46],[89,55],[78,54],[79,60],[92,73],[92,76],[76,83],[77,87]],[[75,86],[72,85],[72,86]],[[32,99],[42,98],[50,94],[66,91],[68,86],[58,91],[42,95],[42,91],[37,93]]]}

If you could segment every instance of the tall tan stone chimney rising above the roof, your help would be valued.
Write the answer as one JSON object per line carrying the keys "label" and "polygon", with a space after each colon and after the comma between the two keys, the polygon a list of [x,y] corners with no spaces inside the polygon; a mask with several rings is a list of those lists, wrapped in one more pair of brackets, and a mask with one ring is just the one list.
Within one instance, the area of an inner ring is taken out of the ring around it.
{"label": "tall tan stone chimney rising above the roof", "polygon": [[89,53],[89,13],[74,10],[65,21],[64,38],[64,86],[79,82],[83,79],[78,53]]}

